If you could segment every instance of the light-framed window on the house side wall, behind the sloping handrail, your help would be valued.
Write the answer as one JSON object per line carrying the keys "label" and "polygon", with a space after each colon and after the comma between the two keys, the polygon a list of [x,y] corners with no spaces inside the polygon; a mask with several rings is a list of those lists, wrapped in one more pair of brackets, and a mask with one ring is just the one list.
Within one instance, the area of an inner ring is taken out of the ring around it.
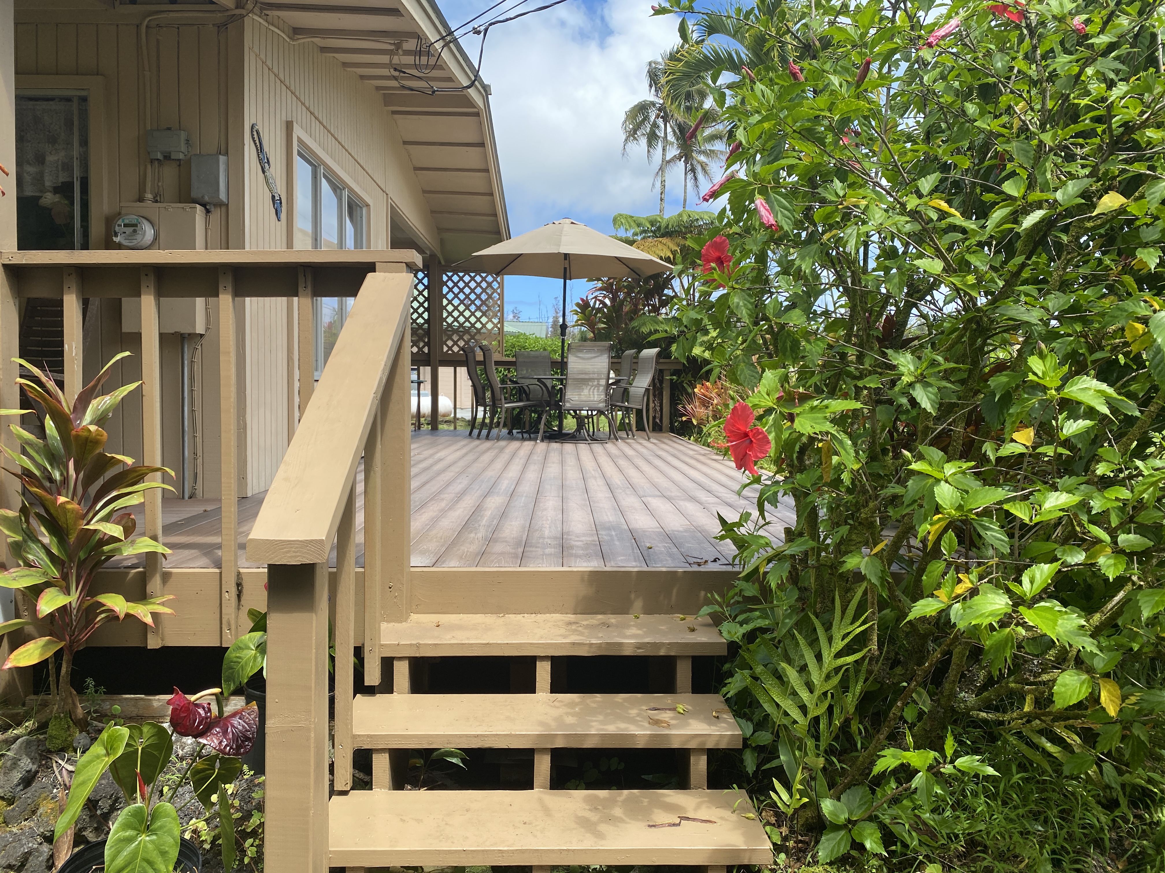
{"label": "light-framed window on the house side wall, behind the sloping handrail", "polygon": [[[295,247],[297,249],[362,249],[366,206],[344,183],[306,151],[296,154]],[[336,347],[351,297],[317,297],[315,301],[316,378]]]}

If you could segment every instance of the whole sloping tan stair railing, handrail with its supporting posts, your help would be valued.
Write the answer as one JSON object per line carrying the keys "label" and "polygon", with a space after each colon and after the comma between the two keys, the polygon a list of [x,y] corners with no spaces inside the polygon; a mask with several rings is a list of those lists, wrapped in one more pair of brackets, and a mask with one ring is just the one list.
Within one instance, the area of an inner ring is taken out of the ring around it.
{"label": "whole sloping tan stair railing, handrail with its supporting posts", "polygon": [[[409,598],[409,298],[405,272],[370,274],[247,540],[266,562],[264,866],[327,867],[329,617],[336,644],[334,787],[352,782],[356,468],[363,459],[363,681],[380,682],[380,623]],[[329,604],[329,556],[336,590]]]}

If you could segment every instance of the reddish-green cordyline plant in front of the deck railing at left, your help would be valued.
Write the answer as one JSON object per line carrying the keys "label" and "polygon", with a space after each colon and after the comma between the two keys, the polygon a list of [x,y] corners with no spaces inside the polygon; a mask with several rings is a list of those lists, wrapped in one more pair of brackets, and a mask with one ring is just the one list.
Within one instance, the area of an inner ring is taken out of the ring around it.
{"label": "reddish-green cordyline plant in front of the deck railing at left", "polygon": [[[119,594],[90,594],[97,572],[112,559],[169,553],[148,537],[133,537],[136,521],[127,510],[142,503],[146,491],[170,488],[147,482],[148,476],[174,474],[164,467],[134,466],[132,457],[103,450],[108,436],[100,425],[141,384],[134,382],[98,396],[110,368],[128,354],[123,352],[110,361],[72,403],[48,374],[16,359],[36,379],[16,382],[38,406],[34,414],[44,438],[10,425],[23,450],[2,447],[8,460],[19,466],[6,467],[5,471],[19,478],[23,490],[20,511],[0,510],[0,530],[8,535],[8,548],[20,562],[0,575],[0,585],[20,590],[29,599],[35,618],[0,624],[0,634],[23,627],[43,634],[16,648],[3,668],[30,667],[51,659],[52,715],[68,714],[80,728],[87,719],[70,680],[73,656],[93,631],[114,618],[133,616],[153,626],[151,613],[174,615],[162,605],[172,599],[170,596],[130,602]],[[23,414],[27,410],[2,412]],[[55,658],[58,650],[59,674]]]}

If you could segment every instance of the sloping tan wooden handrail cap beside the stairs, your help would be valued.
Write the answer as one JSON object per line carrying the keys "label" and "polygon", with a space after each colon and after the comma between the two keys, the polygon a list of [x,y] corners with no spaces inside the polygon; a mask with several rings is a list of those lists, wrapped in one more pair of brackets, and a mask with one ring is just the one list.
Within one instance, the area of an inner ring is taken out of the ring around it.
{"label": "sloping tan wooden handrail cap beside the stairs", "polygon": [[256,563],[327,561],[409,327],[412,276],[368,274],[247,539]]}

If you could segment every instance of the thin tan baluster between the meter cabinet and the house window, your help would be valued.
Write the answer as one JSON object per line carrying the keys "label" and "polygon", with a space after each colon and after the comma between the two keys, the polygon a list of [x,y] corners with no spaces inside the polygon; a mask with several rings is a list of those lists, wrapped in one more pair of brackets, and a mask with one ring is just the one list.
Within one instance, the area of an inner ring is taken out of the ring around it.
{"label": "thin tan baluster between the meter cabinet and the house window", "polygon": [[219,638],[234,641],[234,577],[239,572],[239,385],[234,335],[234,270],[219,268],[219,420],[223,449],[223,574]]}

